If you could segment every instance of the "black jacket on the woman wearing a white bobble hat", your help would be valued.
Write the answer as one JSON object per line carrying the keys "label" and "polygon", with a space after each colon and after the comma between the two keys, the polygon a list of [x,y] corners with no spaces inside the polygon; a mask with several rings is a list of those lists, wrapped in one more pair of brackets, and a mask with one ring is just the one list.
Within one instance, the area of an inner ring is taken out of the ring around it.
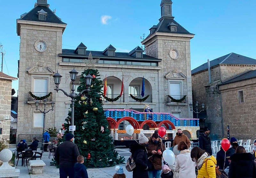
{"label": "black jacket on the woman wearing a white bobble hat", "polygon": [[146,147],[140,144],[132,144],[130,146],[132,158],[136,167],[132,171],[132,178],[148,178],[148,157]]}

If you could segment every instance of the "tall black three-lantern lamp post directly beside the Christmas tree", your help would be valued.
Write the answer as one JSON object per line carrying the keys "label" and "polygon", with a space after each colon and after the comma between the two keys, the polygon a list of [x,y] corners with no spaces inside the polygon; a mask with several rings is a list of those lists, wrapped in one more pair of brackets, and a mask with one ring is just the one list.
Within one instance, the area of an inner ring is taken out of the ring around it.
{"label": "tall black three-lantern lamp post directly beside the Christmas tree", "polygon": [[[78,74],[78,72],[74,69],[72,69],[70,72],[70,79],[72,81],[72,88],[71,88],[71,93],[67,93],[66,91],[64,91],[63,89],[60,89],[59,88],[59,85],[60,85],[60,80],[61,80],[61,75],[58,73],[58,70],[57,70],[57,73],[55,73],[53,75],[53,79],[54,79],[54,83],[56,85],[56,92],[58,93],[58,91],[62,91],[67,97],[70,97],[71,98],[71,126],[74,126],[74,104],[75,104],[75,98],[78,97],[78,96],[82,96],[82,94],[84,93],[84,91],[87,91],[89,92],[90,91],[90,85],[91,85],[91,82],[92,82],[92,76],[90,74],[88,74],[86,77],[85,77],[85,82],[86,82],[86,87],[87,89],[84,89],[83,91],[81,91],[79,94],[76,94],[75,93],[75,81],[76,81],[76,76]],[[74,135],[74,131],[71,131],[71,134]]]}

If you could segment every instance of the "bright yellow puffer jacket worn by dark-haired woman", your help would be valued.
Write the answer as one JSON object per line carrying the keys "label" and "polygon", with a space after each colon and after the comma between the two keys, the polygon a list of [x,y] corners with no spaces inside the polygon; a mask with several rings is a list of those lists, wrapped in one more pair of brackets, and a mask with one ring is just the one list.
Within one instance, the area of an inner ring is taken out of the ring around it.
{"label": "bright yellow puffer jacket worn by dark-haired woman", "polygon": [[[207,167],[206,167],[206,161],[207,161]],[[217,160],[214,158],[214,156],[205,158],[202,167],[198,169],[197,178],[216,178],[216,172],[215,172],[216,164],[217,164]]]}

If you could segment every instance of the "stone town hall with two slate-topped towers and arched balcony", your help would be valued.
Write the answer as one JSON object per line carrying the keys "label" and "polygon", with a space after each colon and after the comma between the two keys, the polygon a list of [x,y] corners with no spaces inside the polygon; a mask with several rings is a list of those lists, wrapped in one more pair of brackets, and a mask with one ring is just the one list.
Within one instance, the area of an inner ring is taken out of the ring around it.
{"label": "stone town hall with two slate-topped towers and arched balcony", "polygon": [[[29,4],[28,4],[29,5]],[[35,7],[17,19],[17,34],[20,36],[19,101],[17,134],[41,134],[43,114],[36,112],[35,99],[52,94],[47,98],[48,106],[55,101],[54,111],[46,114],[46,128],[60,128],[70,108],[70,98],[54,91],[52,74],[61,74],[60,88],[71,92],[69,71],[75,67],[79,72],[75,81],[79,85],[89,53],[99,58],[95,67],[100,78],[107,76],[108,94],[115,98],[120,94],[124,77],[124,92],[116,102],[104,102],[106,109],[134,109],[143,111],[149,104],[154,112],[169,112],[178,118],[192,118],[188,103],[192,102],[190,39],[189,33],[172,16],[172,1],[161,1],[161,18],[158,25],[150,28],[143,40],[145,52],[139,46],[129,53],[116,52],[111,44],[101,51],[87,50],[80,43],[76,49],[62,49],[62,34],[66,23],[49,9],[47,0],[37,0]],[[140,97],[142,78],[145,80],[145,102],[135,102],[129,94]],[[174,102],[171,97],[180,100]],[[42,102],[41,102],[42,103]],[[39,107],[43,107],[40,104]]]}

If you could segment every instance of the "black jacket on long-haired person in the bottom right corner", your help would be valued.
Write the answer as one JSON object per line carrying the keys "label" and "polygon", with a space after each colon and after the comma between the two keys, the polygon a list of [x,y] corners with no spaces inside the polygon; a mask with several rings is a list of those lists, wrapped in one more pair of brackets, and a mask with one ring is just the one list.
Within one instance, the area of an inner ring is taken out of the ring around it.
{"label": "black jacket on long-haired person in the bottom right corner", "polygon": [[251,153],[235,153],[230,157],[228,178],[255,178],[256,166]]}

